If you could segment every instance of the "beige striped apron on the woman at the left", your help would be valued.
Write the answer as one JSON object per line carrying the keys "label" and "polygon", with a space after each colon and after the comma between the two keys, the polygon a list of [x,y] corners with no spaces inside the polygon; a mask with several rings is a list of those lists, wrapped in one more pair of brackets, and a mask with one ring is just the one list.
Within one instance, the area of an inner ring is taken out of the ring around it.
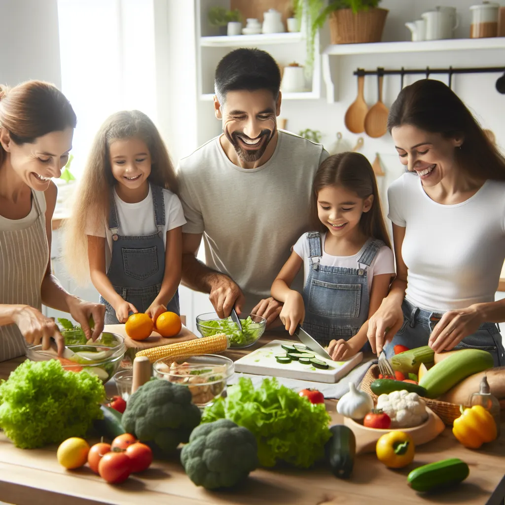
{"label": "beige striped apron on the woman at the left", "polygon": [[[40,287],[49,251],[39,198],[44,199],[44,193],[32,190],[32,205],[37,211],[32,224],[5,231],[0,221],[0,304],[29,305],[40,311]],[[0,361],[23,356],[25,349],[26,341],[15,324],[0,326]]]}

